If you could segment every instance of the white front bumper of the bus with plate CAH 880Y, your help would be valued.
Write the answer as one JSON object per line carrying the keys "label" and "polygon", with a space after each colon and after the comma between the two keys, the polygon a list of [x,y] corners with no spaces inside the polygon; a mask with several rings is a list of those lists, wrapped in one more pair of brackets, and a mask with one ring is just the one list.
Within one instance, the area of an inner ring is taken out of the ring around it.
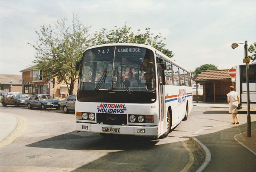
{"label": "white front bumper of the bus with plate CAH 880Y", "polygon": [[157,126],[121,126],[121,125],[102,125],[89,123],[76,123],[76,131],[98,132],[106,134],[125,134],[136,136],[157,136]]}

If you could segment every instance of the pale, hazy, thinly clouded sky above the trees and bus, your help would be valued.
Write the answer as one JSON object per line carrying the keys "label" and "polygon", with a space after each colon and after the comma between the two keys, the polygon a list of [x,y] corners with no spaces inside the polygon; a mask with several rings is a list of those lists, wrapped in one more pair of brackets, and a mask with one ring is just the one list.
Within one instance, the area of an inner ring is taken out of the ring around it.
{"label": "pale, hazy, thinly clouded sky above the trees and bus", "polygon": [[[36,51],[28,43],[38,40],[43,25],[73,14],[93,34],[131,27],[150,28],[165,38],[164,48],[189,71],[204,64],[230,69],[242,64],[244,44],[256,42],[255,0],[0,0],[0,74],[22,75],[34,65]],[[251,55],[249,53],[248,55]]]}

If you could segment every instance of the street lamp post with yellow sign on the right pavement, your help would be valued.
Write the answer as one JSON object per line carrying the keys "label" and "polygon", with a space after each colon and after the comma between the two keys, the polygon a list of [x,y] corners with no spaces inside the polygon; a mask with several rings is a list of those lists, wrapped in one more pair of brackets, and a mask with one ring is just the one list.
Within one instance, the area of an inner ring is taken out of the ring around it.
{"label": "street lamp post with yellow sign on the right pavement", "polygon": [[[238,47],[238,44],[242,43],[232,43],[231,47],[235,49]],[[250,91],[249,91],[249,61],[247,60],[248,58],[248,42],[244,42],[244,58],[245,58],[245,63],[246,63],[246,88],[247,88],[247,136],[251,136],[251,115],[250,115]]]}

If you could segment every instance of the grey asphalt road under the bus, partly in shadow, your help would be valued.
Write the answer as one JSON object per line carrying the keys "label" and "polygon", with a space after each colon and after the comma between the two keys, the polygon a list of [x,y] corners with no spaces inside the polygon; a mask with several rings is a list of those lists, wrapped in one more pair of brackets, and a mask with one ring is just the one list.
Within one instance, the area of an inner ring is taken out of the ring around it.
{"label": "grey asphalt road under the bus, partly in shadow", "polygon": [[[104,137],[97,133],[74,132],[74,112],[3,107],[16,115],[20,134],[0,149],[0,171],[196,171],[204,155],[189,138],[198,130],[228,124],[226,109],[193,107],[167,138],[148,140],[132,136]],[[241,117],[240,121],[244,119]],[[11,135],[12,137],[12,135]]]}

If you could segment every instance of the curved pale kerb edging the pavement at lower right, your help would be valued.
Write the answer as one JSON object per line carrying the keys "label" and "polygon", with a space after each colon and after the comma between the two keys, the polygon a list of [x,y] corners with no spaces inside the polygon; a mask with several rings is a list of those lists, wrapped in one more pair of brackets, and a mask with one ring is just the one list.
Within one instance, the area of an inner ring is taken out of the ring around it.
{"label": "curved pale kerb edging the pavement at lower right", "polygon": [[200,168],[198,168],[198,170],[196,170],[196,172],[202,172],[211,161],[211,152],[204,144],[202,144],[202,142],[200,142],[194,136],[194,134],[190,137],[190,140],[203,152],[205,156],[204,163],[202,164],[202,166],[200,166]]}

